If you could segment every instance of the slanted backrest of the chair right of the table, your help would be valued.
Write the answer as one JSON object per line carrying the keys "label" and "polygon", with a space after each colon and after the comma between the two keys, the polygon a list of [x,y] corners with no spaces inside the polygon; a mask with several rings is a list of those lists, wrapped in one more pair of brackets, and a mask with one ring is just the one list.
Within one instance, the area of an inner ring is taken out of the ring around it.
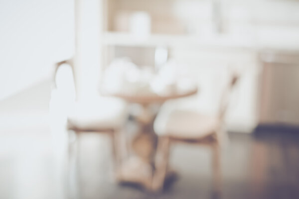
{"label": "slanted backrest of the chair right of the table", "polygon": [[223,121],[223,119],[224,119],[227,107],[229,105],[231,92],[232,92],[233,88],[235,87],[236,83],[238,82],[238,80],[239,80],[239,75],[231,74],[229,80],[227,81],[227,84],[224,86],[224,89],[221,94],[220,106],[219,106],[220,121]]}

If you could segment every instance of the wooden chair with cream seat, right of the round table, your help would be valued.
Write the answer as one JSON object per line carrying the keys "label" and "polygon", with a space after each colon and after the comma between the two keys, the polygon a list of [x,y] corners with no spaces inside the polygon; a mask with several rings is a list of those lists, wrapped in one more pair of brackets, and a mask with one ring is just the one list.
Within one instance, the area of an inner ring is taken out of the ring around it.
{"label": "wooden chair with cream seat, right of the round table", "polygon": [[238,76],[233,75],[229,79],[227,86],[224,86],[220,108],[216,116],[202,115],[192,110],[160,110],[154,121],[154,131],[158,135],[158,147],[152,191],[158,192],[163,188],[167,175],[170,146],[175,143],[187,143],[205,145],[211,148],[213,152],[213,182],[216,193],[220,192],[219,147],[225,133],[223,132],[223,120],[231,90],[236,85],[237,80]]}

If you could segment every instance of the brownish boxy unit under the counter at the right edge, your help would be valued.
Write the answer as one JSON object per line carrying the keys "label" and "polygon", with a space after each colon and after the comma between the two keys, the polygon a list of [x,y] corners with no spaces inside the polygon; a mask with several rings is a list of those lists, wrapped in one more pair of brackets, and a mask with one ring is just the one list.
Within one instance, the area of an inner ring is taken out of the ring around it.
{"label": "brownish boxy unit under the counter at the right edge", "polygon": [[260,90],[262,125],[299,125],[299,52],[264,51]]}

